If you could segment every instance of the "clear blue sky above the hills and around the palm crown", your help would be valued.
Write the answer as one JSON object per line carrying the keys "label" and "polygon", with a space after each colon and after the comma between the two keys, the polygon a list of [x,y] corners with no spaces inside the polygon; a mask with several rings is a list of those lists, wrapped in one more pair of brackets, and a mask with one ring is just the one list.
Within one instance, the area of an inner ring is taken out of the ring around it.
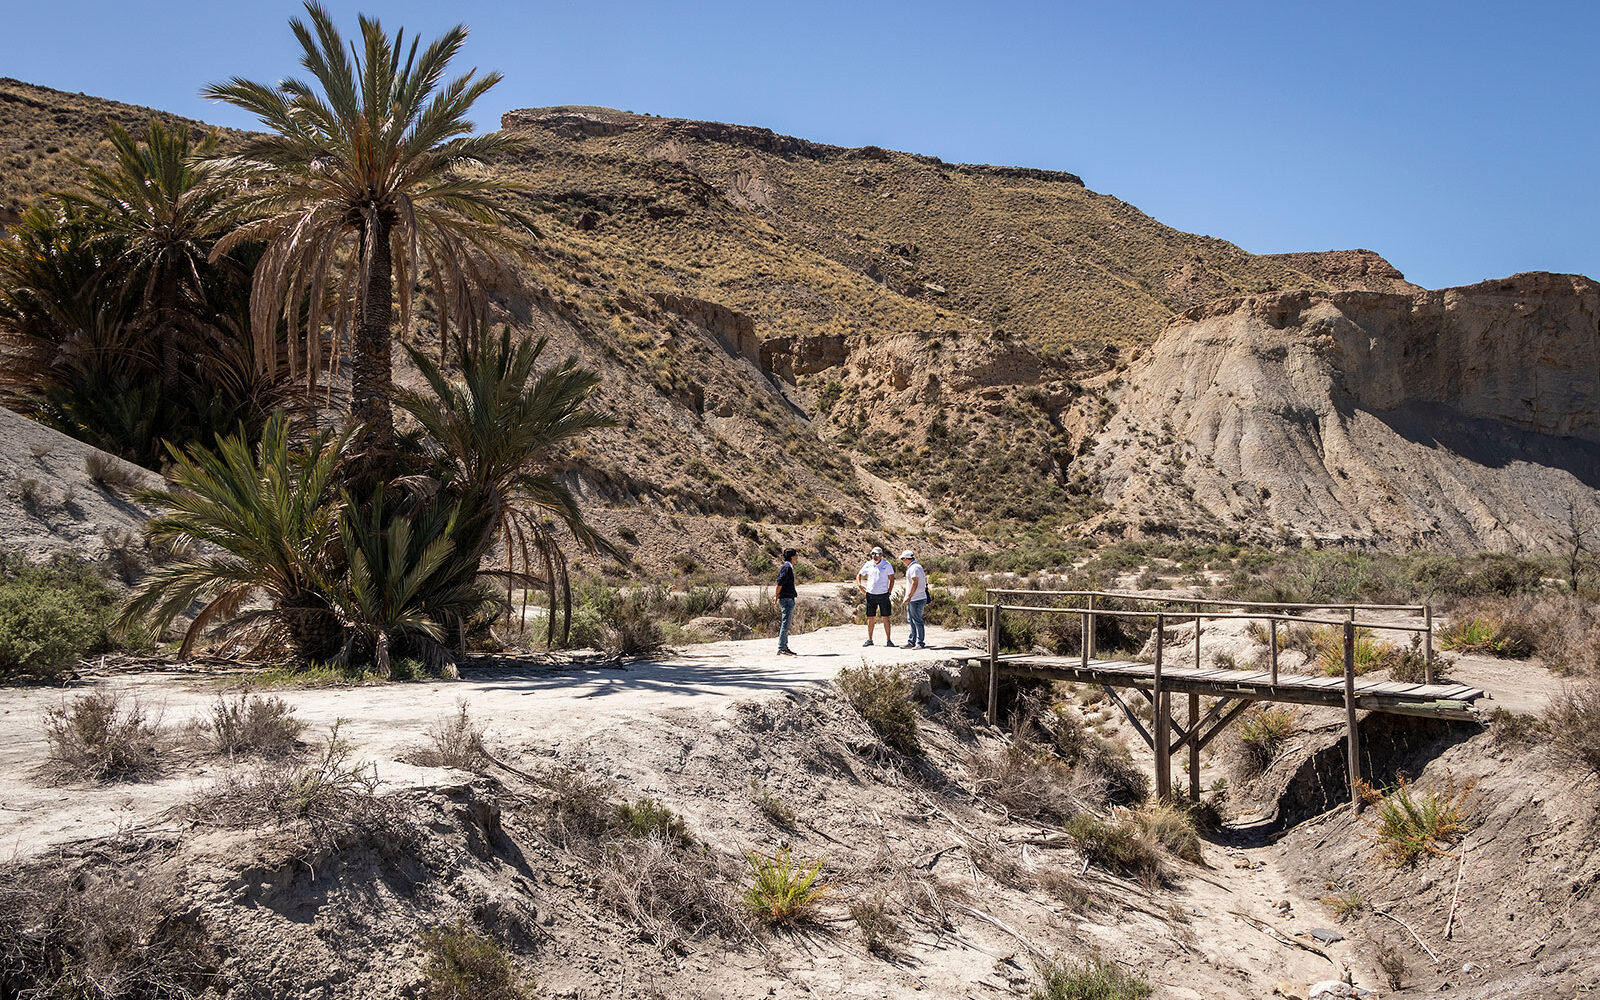
{"label": "clear blue sky above the hills and around the palm crown", "polygon": [[[1069,170],[1258,251],[1365,246],[1413,282],[1600,275],[1600,5],[411,3],[467,22],[482,106],[605,104]],[[11,5],[0,75],[250,126],[198,98],[298,72],[280,0]]]}

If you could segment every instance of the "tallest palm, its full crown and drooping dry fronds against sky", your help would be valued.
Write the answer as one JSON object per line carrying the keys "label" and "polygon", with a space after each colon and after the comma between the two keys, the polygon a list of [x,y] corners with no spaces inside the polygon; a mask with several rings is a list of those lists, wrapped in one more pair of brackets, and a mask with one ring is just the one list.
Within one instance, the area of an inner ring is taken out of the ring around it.
{"label": "tallest palm, its full crown and drooping dry fronds against sky", "polygon": [[[438,304],[440,344],[453,323],[474,336],[488,314],[485,264],[517,251],[512,230],[531,226],[493,195],[510,190],[482,173],[483,162],[517,149],[504,133],[474,136],[466,118],[494,86],[496,72],[467,72],[445,83],[445,70],[467,37],[464,26],[426,50],[405,32],[392,38],[362,18],[362,42],[346,46],[326,8],[306,3],[310,24],[290,22],[301,66],[312,80],[277,86],[232,78],[208,98],[242,107],[267,126],[219,160],[235,184],[230,218],[242,224],[216,253],[259,240],[251,325],[278,320],[299,330],[290,365],[315,384],[325,362],[322,328],[350,331],[350,414],[362,443],[387,453],[394,442],[390,341],[394,291],[400,325],[410,325],[410,291],[426,266]],[[338,339],[326,357],[338,363]],[[262,341],[270,365],[272,341]],[[304,357],[299,354],[302,342]]]}

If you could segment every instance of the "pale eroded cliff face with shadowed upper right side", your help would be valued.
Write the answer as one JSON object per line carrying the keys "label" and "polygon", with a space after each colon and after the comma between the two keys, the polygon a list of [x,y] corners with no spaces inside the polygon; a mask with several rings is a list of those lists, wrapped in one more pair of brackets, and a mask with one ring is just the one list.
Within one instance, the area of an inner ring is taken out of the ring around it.
{"label": "pale eroded cliff face with shadowed upper right side", "polygon": [[1115,403],[1093,467],[1130,530],[1546,549],[1600,514],[1600,286],[1221,299]]}

